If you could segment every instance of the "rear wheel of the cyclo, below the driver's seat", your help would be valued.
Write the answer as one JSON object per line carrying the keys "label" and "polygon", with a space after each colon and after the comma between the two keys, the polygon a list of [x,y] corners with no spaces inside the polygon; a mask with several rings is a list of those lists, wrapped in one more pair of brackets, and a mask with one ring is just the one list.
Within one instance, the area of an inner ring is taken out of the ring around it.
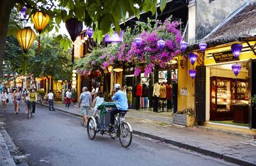
{"label": "rear wheel of the cyclo, below the driver's seat", "polygon": [[129,128],[129,125],[126,122],[123,122],[118,127],[119,132],[119,142],[122,147],[129,147],[132,142],[132,132]]}

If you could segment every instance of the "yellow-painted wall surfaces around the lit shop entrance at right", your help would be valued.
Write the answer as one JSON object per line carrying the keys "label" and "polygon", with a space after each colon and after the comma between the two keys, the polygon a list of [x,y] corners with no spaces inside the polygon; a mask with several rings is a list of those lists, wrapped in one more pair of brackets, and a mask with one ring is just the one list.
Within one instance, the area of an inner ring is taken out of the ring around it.
{"label": "yellow-painted wall surfaces around the lit shop entrance at right", "polygon": [[[223,52],[226,50],[231,50],[231,45],[232,43],[228,43],[227,46],[223,47],[216,47],[214,49],[208,49],[205,50],[205,57],[207,56],[211,56],[212,53],[216,53],[216,52]],[[243,48],[248,47],[247,43],[242,43]],[[250,45],[254,45],[253,42],[250,43]],[[244,51],[244,49],[242,50]],[[187,55],[186,55],[187,56]],[[201,53],[198,53],[198,56],[201,56]],[[248,61],[249,59],[256,59],[256,56],[253,54],[252,51],[247,50],[242,52],[239,56],[239,60],[240,61]],[[189,76],[188,70],[193,68],[193,66],[191,65],[189,59],[184,59],[184,68],[181,68],[180,66],[180,59],[182,59],[182,56],[179,56],[179,65],[178,65],[178,111],[179,110],[184,110],[184,109],[193,109],[195,110],[195,80],[192,80],[191,77]],[[220,64],[220,63],[215,63],[214,58],[205,58],[205,66],[211,66],[214,64]],[[232,61],[232,62],[228,62],[228,63],[236,63],[236,61]],[[196,63],[194,64],[194,68],[196,68],[198,64],[198,61],[196,61]],[[220,70],[220,69],[219,69]],[[230,77],[230,75],[234,76],[234,73],[232,72],[232,70],[228,71],[228,70],[223,70],[223,72],[219,72],[216,73],[215,70],[212,70],[212,76],[214,75],[218,75],[218,77]],[[210,71],[209,68],[207,68],[206,71],[206,103],[205,103],[205,109],[206,109],[206,120],[209,120],[209,84],[210,84]],[[235,77],[235,76],[234,76]],[[239,75],[237,75],[237,79],[246,79],[248,77],[248,73],[246,72],[241,72],[239,73]],[[193,86],[192,86],[192,82],[193,82]],[[180,94],[180,89],[182,87],[186,87],[188,89],[188,96],[183,96]]]}

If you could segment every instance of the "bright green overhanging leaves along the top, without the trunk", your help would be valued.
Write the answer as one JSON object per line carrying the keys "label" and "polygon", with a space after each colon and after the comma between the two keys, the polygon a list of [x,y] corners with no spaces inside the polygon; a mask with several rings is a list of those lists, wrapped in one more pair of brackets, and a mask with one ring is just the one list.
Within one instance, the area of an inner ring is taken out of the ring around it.
{"label": "bright green overhanging leaves along the top, without the trunk", "polygon": [[[38,9],[47,12],[51,20],[45,28],[45,32],[52,31],[52,29],[56,29],[58,32],[61,22],[66,22],[71,17],[76,17],[78,20],[84,22],[86,27],[93,27],[95,30],[93,38],[100,43],[104,34],[113,30],[111,26],[114,25],[115,30],[119,33],[119,22],[125,21],[127,16],[136,15],[139,18],[142,10],[145,12],[151,11],[155,14],[157,0],[56,0],[54,2],[49,0],[26,0],[15,3],[14,6],[16,11],[20,11],[23,6],[26,6],[29,17]],[[161,11],[164,10],[165,6],[166,0],[160,0]],[[8,34],[14,35],[18,29],[20,27],[13,26],[10,28]],[[65,36],[61,36],[61,38],[65,38]],[[71,48],[70,40],[63,40],[60,43],[63,43],[61,46],[64,49],[67,49],[67,47]]]}

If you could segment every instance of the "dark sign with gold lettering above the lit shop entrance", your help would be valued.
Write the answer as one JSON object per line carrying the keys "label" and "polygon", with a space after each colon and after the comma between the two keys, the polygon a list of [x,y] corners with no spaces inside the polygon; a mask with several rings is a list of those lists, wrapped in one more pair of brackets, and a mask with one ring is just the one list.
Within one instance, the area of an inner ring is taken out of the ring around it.
{"label": "dark sign with gold lettering above the lit shop entrance", "polygon": [[[225,52],[218,52],[212,54],[216,63],[223,63],[228,61],[237,61],[236,57],[233,55],[232,50]],[[239,60],[239,59],[238,59]]]}

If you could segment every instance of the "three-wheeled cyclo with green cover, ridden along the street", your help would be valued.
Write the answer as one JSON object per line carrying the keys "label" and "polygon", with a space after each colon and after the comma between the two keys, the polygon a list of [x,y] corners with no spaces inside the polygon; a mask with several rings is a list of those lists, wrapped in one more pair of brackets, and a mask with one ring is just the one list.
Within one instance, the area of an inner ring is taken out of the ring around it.
{"label": "three-wheeled cyclo with green cover, ridden along the street", "polygon": [[104,102],[97,109],[99,114],[94,114],[88,118],[87,133],[89,139],[93,140],[96,133],[101,135],[109,135],[111,138],[118,138],[123,147],[129,147],[132,142],[132,128],[131,125],[125,121],[125,112],[120,112],[115,117],[115,126],[112,132],[109,132],[110,111],[116,108],[115,102]]}

